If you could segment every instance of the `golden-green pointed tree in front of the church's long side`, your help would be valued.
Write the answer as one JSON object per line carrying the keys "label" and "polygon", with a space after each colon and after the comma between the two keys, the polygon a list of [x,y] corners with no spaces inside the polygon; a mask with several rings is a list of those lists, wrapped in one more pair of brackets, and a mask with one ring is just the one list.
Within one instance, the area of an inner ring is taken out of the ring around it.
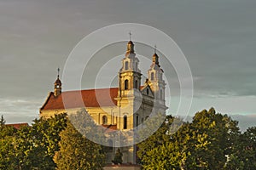
{"label": "golden-green pointed tree in front of the church's long side", "polygon": [[67,122],[60,136],[60,150],[54,156],[58,169],[102,169],[105,155],[101,152],[101,145],[84,138],[71,122]]}

